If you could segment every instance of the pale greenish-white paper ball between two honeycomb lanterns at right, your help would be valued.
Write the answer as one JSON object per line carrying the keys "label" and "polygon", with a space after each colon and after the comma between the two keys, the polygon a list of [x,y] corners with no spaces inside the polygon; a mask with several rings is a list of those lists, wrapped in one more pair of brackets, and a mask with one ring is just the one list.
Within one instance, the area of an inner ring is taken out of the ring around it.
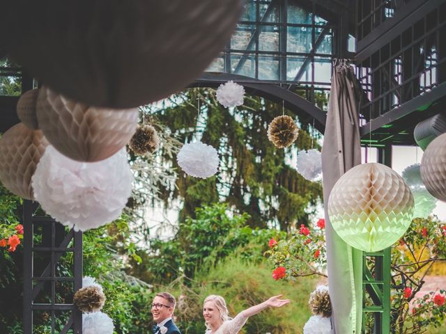
{"label": "pale greenish-white paper ball between two honeycomb lanterns at right", "polygon": [[437,199],[426,190],[421,178],[420,164],[408,166],[403,170],[403,179],[412,191],[415,207],[413,209],[414,217],[426,218],[436,207]]}

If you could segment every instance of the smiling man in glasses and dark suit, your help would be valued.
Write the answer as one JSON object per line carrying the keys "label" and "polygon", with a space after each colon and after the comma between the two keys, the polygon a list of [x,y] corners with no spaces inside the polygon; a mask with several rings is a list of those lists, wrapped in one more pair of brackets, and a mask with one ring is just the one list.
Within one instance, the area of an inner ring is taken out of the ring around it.
{"label": "smiling man in glasses and dark suit", "polygon": [[175,304],[175,297],[167,292],[155,295],[151,309],[153,321],[156,322],[156,325],[153,326],[153,334],[181,334],[172,321]]}

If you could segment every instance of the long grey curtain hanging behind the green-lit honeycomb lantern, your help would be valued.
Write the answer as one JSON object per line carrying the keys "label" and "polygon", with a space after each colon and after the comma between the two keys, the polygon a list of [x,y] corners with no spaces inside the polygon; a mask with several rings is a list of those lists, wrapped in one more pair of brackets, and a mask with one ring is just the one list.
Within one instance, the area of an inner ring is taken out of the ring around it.
{"label": "long grey curtain hanging behind the green-lit honeycomb lantern", "polygon": [[362,251],[334,232],[327,214],[328,197],[339,177],[361,164],[358,111],[362,89],[348,61],[334,61],[323,138],[323,202],[327,240],[332,326],[337,334],[360,334],[362,322]]}

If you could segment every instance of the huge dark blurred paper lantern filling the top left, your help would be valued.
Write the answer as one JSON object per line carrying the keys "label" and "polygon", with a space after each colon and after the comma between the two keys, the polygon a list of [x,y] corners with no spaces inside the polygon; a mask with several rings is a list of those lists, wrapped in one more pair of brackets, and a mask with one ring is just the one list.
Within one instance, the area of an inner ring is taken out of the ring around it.
{"label": "huge dark blurred paper lantern filling the top left", "polygon": [[118,109],[162,100],[199,77],[231,38],[245,3],[15,2],[2,7],[8,15],[0,31],[17,63],[76,101]]}

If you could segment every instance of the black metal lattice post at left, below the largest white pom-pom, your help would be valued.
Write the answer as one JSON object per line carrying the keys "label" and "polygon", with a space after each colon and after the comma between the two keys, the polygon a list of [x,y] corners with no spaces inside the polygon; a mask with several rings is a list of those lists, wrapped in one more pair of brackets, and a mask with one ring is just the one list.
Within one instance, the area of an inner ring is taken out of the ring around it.
{"label": "black metal lattice post at left, below the largest white pom-pom", "polygon": [[[37,210],[37,202],[24,201],[24,333],[33,333],[33,314],[44,312],[52,334],[82,334],[82,313],[72,303],[82,287],[82,232],[67,230],[53,218],[35,214]],[[68,253],[72,270],[61,277],[57,264]]]}

